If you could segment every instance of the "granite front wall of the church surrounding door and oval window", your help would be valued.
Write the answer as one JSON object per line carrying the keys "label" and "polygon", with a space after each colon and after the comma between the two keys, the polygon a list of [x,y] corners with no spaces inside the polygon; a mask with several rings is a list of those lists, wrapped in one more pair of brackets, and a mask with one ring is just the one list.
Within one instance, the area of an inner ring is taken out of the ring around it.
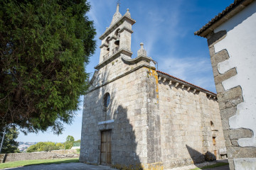
{"label": "granite front wall of the church surrounding door and oval window", "polygon": [[[110,65],[122,67],[122,64],[116,63],[116,65]],[[112,72],[99,72],[99,75],[112,77],[115,75],[114,72],[118,72],[117,70],[119,69],[113,69]],[[142,67],[85,95],[81,162],[100,164],[100,132],[102,130],[112,130],[112,166],[146,167],[147,164],[160,162],[159,115],[154,113],[158,96],[155,88],[157,76],[151,75],[153,73],[149,70]],[[107,79],[102,80],[107,82]],[[105,93],[110,93],[111,96],[107,111],[102,107],[102,97]],[[112,120],[112,122],[102,123],[106,120]]]}

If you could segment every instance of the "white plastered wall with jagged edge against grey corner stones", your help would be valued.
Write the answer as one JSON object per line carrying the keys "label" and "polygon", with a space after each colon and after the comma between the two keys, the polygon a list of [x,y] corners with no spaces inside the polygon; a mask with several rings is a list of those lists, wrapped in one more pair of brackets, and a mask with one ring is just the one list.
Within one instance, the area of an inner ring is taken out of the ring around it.
{"label": "white plastered wall with jagged edge against grey corner stones", "polygon": [[238,74],[223,81],[225,90],[241,86],[244,102],[229,120],[231,129],[247,128],[252,138],[238,140],[241,147],[256,147],[256,1],[214,30],[226,30],[226,37],[214,45],[215,52],[228,51],[230,59],[218,64],[218,72],[224,74],[236,68]]}

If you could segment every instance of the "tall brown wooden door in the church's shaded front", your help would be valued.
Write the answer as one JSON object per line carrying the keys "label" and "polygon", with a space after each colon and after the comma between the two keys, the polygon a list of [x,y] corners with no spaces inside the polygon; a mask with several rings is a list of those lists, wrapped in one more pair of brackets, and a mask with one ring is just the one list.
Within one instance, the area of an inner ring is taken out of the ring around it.
{"label": "tall brown wooden door in the church's shaded front", "polygon": [[100,164],[111,165],[111,130],[101,132]]}

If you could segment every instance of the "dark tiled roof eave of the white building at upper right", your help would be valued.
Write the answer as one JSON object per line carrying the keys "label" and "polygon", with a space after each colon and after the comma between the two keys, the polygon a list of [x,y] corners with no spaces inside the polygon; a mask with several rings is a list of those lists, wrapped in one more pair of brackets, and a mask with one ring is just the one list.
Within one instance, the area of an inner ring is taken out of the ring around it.
{"label": "dark tiled roof eave of the white building at upper right", "polygon": [[252,1],[255,0],[235,0],[232,4],[230,4],[230,6],[225,8],[221,13],[218,13],[217,16],[206,23],[205,26],[200,28],[200,30],[197,30],[194,35],[206,38],[208,33],[213,31],[225,21],[228,21],[228,19],[235,16],[236,13],[242,11],[242,9],[251,4]]}

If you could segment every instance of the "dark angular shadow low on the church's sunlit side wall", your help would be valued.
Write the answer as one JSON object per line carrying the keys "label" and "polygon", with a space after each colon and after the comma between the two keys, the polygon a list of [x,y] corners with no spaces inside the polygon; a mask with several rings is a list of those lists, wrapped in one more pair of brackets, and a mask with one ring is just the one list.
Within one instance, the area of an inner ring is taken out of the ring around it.
{"label": "dark angular shadow low on the church's sunlit side wall", "polygon": [[193,164],[198,164],[204,161],[214,161],[216,160],[216,157],[214,154],[210,152],[206,152],[206,154],[201,154],[196,149],[193,149],[192,147],[189,147],[186,145],[186,148],[188,149],[188,153],[191,156],[191,159],[193,160]]}

